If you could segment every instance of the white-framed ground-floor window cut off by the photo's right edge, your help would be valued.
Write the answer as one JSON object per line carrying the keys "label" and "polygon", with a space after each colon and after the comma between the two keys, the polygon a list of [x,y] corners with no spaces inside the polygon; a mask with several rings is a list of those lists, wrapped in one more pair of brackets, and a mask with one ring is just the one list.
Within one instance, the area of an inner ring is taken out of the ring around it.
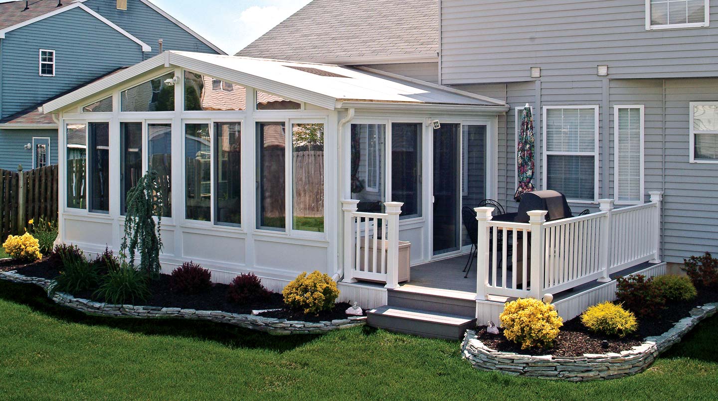
{"label": "white-framed ground-floor window cut off by the photo's right edge", "polygon": [[690,110],[691,163],[718,163],[718,102],[691,102]]}

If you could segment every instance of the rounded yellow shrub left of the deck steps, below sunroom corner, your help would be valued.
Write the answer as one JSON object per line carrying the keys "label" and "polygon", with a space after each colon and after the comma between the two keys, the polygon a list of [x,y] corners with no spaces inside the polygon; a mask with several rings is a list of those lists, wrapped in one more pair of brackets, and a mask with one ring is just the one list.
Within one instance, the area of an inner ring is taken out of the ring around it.
{"label": "rounded yellow shrub left of the deck steps, below sunroom corner", "polygon": [[317,314],[334,307],[339,289],[329,275],[304,272],[284,288],[282,295],[284,303],[293,311]]}

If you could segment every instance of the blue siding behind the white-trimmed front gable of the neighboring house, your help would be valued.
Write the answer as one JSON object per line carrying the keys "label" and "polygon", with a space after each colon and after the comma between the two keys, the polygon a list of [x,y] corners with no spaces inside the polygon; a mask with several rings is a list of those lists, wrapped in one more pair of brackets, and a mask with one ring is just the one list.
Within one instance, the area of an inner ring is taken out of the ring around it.
{"label": "blue siding behind the white-trimmed front gable of the neighboring house", "polygon": [[157,55],[159,39],[163,39],[162,48],[164,50],[217,54],[214,49],[194,37],[190,32],[185,31],[139,0],[127,1],[126,10],[118,10],[116,0],[90,0],[85,2],[85,6],[97,11],[98,14],[122,27],[142,42],[149,44],[152,51],[146,54],[146,58]]}

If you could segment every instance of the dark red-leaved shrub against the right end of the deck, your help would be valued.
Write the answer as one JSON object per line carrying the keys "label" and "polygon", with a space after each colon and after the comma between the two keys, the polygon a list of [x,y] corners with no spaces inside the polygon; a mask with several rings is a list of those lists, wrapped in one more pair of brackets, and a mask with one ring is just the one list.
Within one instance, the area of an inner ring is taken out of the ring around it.
{"label": "dark red-leaved shrub against the right end of the deck", "polygon": [[666,304],[666,296],[661,288],[653,285],[653,278],[638,274],[616,281],[616,298],[638,316],[658,316]]}

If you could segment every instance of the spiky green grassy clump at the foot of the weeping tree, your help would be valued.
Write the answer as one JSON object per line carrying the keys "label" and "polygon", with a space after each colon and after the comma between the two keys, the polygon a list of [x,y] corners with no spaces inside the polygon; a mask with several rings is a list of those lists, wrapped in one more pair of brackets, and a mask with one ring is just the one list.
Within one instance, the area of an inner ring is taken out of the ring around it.
{"label": "spiky green grassy clump at the foot of the weeping tree", "polygon": [[105,275],[102,285],[95,291],[95,296],[116,305],[126,303],[136,305],[138,301],[145,301],[150,296],[146,274],[127,263],[122,263],[120,268],[110,270]]}

